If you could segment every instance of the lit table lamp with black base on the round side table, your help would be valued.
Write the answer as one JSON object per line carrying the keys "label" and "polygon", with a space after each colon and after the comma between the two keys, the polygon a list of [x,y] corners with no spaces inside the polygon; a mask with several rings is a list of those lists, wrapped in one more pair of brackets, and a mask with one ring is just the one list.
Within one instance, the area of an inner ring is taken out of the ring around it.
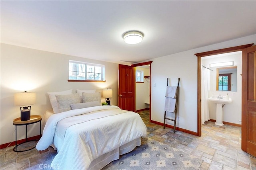
{"label": "lit table lamp with black base on the round side table", "polygon": [[[34,92],[23,92],[14,94],[14,105],[20,107],[20,120],[30,120],[30,109],[32,105],[36,104],[36,93]],[[29,108],[28,108],[29,107]],[[23,108],[23,109],[22,109]]]}

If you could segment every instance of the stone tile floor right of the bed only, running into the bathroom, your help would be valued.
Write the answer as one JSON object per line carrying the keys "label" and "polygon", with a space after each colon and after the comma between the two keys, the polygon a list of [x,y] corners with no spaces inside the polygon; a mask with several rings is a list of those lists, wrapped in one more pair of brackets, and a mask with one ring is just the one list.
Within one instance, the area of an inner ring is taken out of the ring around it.
{"label": "stone tile floor right of the bed only, running into the bathroom", "polygon": [[204,162],[200,170],[256,170],[256,158],[241,150],[241,127],[208,121],[198,137],[149,123],[149,111],[138,113],[147,126],[148,137],[201,158]]}

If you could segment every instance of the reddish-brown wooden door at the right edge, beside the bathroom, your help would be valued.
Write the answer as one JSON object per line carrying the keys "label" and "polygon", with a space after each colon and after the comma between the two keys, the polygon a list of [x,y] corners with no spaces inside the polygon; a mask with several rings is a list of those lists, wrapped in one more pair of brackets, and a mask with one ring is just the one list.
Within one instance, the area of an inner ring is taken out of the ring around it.
{"label": "reddish-brown wooden door at the right edge, beside the bathroom", "polygon": [[242,50],[242,150],[256,156],[256,45]]}

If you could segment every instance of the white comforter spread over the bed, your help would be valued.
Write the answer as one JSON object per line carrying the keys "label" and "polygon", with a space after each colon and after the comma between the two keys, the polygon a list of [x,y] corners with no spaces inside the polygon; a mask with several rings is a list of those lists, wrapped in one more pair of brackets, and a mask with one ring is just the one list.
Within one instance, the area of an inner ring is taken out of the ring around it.
{"label": "white comforter spread over the bed", "polygon": [[96,106],[52,115],[36,149],[52,144],[58,148],[53,168],[87,169],[98,156],[142,136],[146,136],[146,125],[138,113]]}

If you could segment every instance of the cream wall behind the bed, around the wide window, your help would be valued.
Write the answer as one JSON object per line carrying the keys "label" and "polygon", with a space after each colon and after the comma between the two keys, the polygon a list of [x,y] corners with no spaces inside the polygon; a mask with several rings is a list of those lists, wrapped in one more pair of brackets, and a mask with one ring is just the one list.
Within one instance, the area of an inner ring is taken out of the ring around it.
{"label": "cream wall behind the bed, around the wide window", "polygon": [[[85,54],[86,57],[86,54]],[[104,57],[104,56],[102,56]],[[68,82],[68,61],[104,64],[106,82]],[[43,115],[50,109],[47,92],[76,89],[112,88],[111,104],[118,104],[118,64],[50,53],[24,47],[1,44],[1,144],[15,141],[13,119],[20,117],[20,107],[14,106],[14,93],[36,92],[32,115]],[[104,102],[102,98],[102,102]],[[17,127],[18,140],[26,138],[26,126]],[[39,123],[28,125],[28,137],[39,135]]]}

